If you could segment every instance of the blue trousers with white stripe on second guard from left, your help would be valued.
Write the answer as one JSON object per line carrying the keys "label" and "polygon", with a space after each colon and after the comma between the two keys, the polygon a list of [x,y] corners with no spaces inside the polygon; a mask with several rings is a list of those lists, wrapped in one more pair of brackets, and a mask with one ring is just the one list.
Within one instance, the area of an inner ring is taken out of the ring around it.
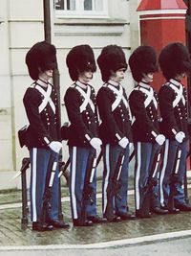
{"label": "blue trousers with white stripe on second guard from left", "polygon": [[[78,219],[82,210],[82,196],[84,188],[84,179],[87,170],[88,157],[92,148],[70,147],[70,197],[71,197],[71,210],[73,220]],[[86,214],[88,217],[96,216],[96,172],[93,182],[90,184],[91,195],[93,202],[88,202],[86,205]]]}

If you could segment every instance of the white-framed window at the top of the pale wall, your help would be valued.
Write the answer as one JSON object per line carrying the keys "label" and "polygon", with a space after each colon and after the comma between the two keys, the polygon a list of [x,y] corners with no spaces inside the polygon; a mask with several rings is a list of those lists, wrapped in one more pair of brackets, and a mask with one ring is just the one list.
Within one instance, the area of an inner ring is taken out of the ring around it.
{"label": "white-framed window at the top of the pale wall", "polygon": [[54,0],[56,17],[105,17],[107,0]]}

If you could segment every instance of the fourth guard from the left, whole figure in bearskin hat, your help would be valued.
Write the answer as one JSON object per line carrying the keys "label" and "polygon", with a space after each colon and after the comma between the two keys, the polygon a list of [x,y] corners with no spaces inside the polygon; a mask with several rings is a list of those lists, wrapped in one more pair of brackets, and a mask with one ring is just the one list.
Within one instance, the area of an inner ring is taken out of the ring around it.
{"label": "fourth guard from the left, whole figure in bearskin hat", "polygon": [[[137,82],[129,96],[136,155],[136,216],[149,218],[151,211],[156,214],[168,213],[159,204],[157,176],[160,148],[165,137],[159,131],[158,96],[151,86],[154,74],[158,71],[155,50],[150,46],[139,46],[130,56],[129,65]],[[149,190],[151,197],[147,198]]]}

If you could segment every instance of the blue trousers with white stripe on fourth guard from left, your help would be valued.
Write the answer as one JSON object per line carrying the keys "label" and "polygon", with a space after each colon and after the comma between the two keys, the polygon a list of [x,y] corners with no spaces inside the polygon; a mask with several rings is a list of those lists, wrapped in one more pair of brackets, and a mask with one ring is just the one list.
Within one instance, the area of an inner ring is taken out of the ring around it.
{"label": "blue trousers with white stripe on fourth guard from left", "polygon": [[[156,154],[160,151],[159,144],[155,143],[135,143],[135,199],[136,199],[136,210],[141,209],[143,202],[143,195],[145,185],[147,183],[151,169],[155,169],[157,162],[155,161]],[[158,180],[158,170],[155,175]],[[153,188],[151,197],[151,208],[159,207],[159,184]]]}

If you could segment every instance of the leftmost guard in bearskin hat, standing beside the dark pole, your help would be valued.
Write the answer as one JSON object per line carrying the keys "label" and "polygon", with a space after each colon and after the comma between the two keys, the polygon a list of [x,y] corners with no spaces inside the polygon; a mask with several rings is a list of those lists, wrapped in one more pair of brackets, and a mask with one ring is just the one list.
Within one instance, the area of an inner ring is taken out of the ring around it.
{"label": "leftmost guard in bearskin hat, standing beside the dark pole", "polygon": [[55,47],[46,41],[34,44],[26,63],[34,81],[23,99],[29,120],[26,146],[31,159],[32,230],[66,228],[69,224],[58,220],[58,152],[62,144],[57,134],[57,95],[51,83]]}

